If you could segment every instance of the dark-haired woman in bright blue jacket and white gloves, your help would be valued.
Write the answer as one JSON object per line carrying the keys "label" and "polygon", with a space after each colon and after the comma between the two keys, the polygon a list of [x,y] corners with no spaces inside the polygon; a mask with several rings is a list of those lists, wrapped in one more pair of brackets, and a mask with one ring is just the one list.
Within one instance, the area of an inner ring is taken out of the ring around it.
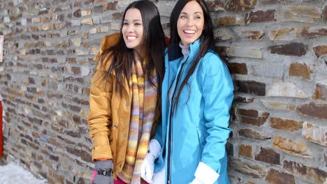
{"label": "dark-haired woman in bright blue jacket and white gloves", "polygon": [[231,132],[233,82],[214,51],[205,2],[177,1],[170,26],[162,123],[150,141],[142,177],[156,184],[229,183],[225,145]]}

